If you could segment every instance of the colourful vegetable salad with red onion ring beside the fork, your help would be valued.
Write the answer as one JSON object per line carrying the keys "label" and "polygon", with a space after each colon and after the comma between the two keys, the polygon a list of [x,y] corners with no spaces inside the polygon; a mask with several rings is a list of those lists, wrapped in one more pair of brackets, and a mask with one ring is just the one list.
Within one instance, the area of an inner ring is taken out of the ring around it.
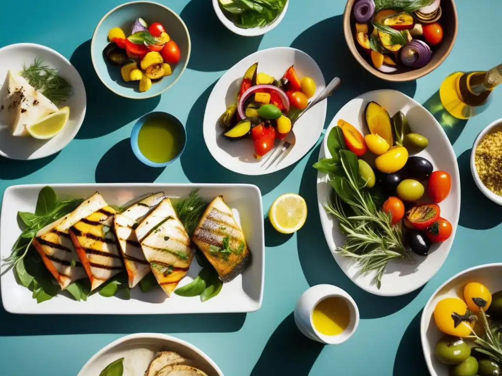
{"label": "colourful vegetable salad with red onion ring beside the fork", "polygon": [[294,66],[276,80],[267,73],[258,73],[255,63],[242,78],[236,104],[220,116],[223,137],[231,141],[251,138],[259,159],[272,149],[276,139],[288,135],[315,91],[315,81],[311,77],[300,79]]}

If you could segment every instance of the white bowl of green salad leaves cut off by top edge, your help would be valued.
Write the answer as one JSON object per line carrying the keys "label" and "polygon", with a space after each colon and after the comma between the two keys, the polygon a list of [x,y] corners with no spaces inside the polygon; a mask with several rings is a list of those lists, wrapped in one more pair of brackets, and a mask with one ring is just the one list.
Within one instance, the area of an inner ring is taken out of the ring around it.
{"label": "white bowl of green salad leaves cut off by top edge", "polygon": [[284,18],[289,0],[212,0],[214,12],[231,32],[244,37],[264,35]]}

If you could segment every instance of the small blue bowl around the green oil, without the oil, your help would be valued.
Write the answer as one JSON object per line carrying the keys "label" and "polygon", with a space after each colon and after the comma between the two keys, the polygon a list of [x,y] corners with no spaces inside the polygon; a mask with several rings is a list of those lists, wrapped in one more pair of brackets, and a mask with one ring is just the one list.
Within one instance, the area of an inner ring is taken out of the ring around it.
{"label": "small blue bowl around the green oil, without the oil", "polygon": [[[167,162],[164,163],[158,163],[151,161],[148,159],[145,155],[140,150],[140,146],[138,145],[138,135],[140,134],[140,129],[145,124],[147,120],[150,119],[165,119],[166,121],[170,122],[172,125],[177,127],[177,131],[179,132],[180,135],[180,143],[183,144],[183,146],[180,148],[180,151],[178,154],[171,160],[168,160]],[[179,121],[175,116],[168,114],[167,112],[161,112],[161,111],[155,111],[155,112],[150,112],[148,114],[143,115],[138,119],[136,124],[133,127],[133,131],[131,132],[131,147],[133,148],[134,155],[141,160],[143,163],[145,163],[147,166],[150,167],[165,167],[173,163],[175,160],[177,160],[180,155],[183,153],[185,150],[185,146],[187,144],[187,133],[185,130],[185,127]]]}

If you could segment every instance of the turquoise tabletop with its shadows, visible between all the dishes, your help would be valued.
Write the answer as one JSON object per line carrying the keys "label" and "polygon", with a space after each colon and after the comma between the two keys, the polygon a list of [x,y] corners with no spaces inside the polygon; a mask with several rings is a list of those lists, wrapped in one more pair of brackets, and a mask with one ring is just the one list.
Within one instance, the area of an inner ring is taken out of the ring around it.
{"label": "turquoise tabletop with its shadows, visible between all the dishes", "polygon": [[[426,375],[420,344],[420,315],[432,292],[457,272],[500,262],[502,207],[477,190],[469,169],[479,131],[502,117],[502,89],[479,116],[446,131],[460,168],[459,228],[443,267],[423,288],[384,298],[368,294],[340,270],[324,240],[316,197],[319,145],[295,165],[261,177],[227,171],[214,161],[203,140],[206,101],[219,77],[257,50],[291,46],[310,54],[326,81],[342,85],[328,100],[325,127],[350,99],[373,89],[393,88],[429,109],[437,105],[439,84],[454,71],[483,70],[502,62],[500,0],[457,0],[458,38],[446,61],[416,82],[391,84],[359,67],[343,37],[342,0],[291,0],[283,22],[263,38],[231,34],[216,18],[210,0],[162,0],[179,13],[192,38],[192,55],[179,82],[162,96],[128,100],[107,90],[94,73],[90,39],[101,17],[119,0],[69,2],[26,0],[2,3],[4,45],[33,42],[51,47],[77,68],[87,90],[87,114],[76,138],[61,152],[35,161],[0,158],[0,192],[12,184],[82,182],[246,182],[257,184],[264,210],[281,194],[299,193],[310,209],[303,229],[276,233],[266,220],[266,276],[262,308],[248,314],[175,316],[24,316],[0,308],[0,374],[76,375],[101,347],[137,332],[169,333],[201,348],[226,376],[243,375]],[[129,143],[139,117],[168,111],[186,126],[188,144],[180,160],[165,169],[142,165]],[[436,114],[443,121],[441,113]],[[444,121],[443,121],[444,123]],[[346,290],[359,306],[361,321],[341,345],[323,346],[296,329],[293,309],[309,286],[329,283]],[[112,300],[110,300],[111,304]],[[44,303],[50,304],[50,303]],[[85,304],[85,303],[82,303]],[[97,376],[97,375],[96,375]]]}

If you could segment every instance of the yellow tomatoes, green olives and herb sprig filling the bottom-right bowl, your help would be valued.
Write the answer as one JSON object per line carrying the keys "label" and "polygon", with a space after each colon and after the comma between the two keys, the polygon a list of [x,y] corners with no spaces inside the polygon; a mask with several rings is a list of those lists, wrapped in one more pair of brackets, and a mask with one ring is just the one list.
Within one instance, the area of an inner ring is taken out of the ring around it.
{"label": "yellow tomatoes, green olives and herb sprig filling the bottom-right bowl", "polygon": [[469,282],[462,298],[440,300],[434,321],[445,336],[434,350],[453,376],[501,374],[502,291],[491,295],[486,286]]}

